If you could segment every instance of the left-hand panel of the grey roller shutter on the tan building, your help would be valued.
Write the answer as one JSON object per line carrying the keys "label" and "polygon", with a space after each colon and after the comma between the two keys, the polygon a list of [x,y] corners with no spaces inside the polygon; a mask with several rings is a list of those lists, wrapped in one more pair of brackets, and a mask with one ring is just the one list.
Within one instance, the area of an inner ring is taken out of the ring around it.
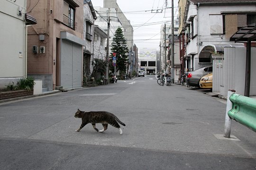
{"label": "left-hand panel of the grey roller shutter on the tan building", "polygon": [[61,46],[61,85],[63,88],[72,88],[73,76],[73,43],[62,40]]}

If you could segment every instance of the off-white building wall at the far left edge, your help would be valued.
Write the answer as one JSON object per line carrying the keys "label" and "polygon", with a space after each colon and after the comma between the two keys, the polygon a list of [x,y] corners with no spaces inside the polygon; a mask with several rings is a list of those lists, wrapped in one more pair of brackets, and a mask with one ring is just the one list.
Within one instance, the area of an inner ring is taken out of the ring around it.
{"label": "off-white building wall at the far left edge", "polygon": [[27,77],[27,26],[37,22],[25,15],[26,2],[1,1],[0,88]]}

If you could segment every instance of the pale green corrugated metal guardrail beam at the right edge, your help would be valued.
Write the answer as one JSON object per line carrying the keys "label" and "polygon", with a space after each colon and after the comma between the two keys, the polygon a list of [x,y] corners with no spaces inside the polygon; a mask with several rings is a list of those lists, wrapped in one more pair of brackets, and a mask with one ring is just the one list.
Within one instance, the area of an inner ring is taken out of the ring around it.
{"label": "pale green corrugated metal guardrail beam at the right edge", "polygon": [[256,132],[256,99],[233,93],[229,100],[233,103],[229,117]]}

